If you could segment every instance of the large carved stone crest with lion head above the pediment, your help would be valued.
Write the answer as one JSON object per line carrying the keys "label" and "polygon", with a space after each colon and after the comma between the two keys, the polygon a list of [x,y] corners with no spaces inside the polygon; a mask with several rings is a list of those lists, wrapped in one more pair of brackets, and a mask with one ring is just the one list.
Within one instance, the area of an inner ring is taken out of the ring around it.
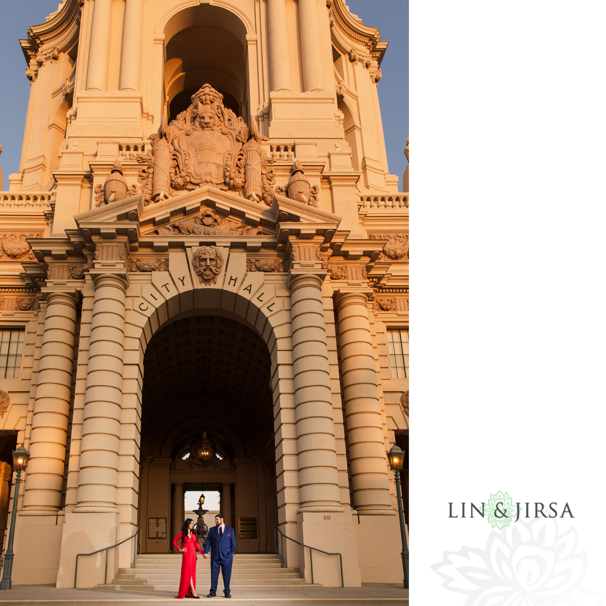
{"label": "large carved stone crest with lion head above the pediment", "polygon": [[261,148],[263,140],[225,107],[221,93],[205,84],[191,97],[187,110],[150,137],[151,153],[138,158],[145,163],[139,171],[145,204],[202,185],[271,204],[273,175]]}

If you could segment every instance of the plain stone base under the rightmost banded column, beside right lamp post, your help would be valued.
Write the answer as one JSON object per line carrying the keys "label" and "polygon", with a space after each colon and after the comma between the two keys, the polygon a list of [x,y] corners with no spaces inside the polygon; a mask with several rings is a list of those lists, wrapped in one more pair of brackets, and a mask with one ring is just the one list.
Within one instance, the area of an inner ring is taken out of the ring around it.
{"label": "plain stone base under the rightmost banded column, beside right lamp post", "polygon": [[398,516],[368,516],[358,510],[353,522],[362,583],[401,584],[404,573]]}

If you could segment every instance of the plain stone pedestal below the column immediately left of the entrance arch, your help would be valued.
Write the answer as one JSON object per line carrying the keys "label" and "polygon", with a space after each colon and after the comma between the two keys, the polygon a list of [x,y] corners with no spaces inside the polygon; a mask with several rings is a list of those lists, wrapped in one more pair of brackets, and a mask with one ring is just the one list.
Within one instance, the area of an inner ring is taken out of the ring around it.
{"label": "plain stone pedestal below the column immediately left of the entrance arch", "polygon": [[[76,554],[91,553],[118,542],[120,516],[118,513],[65,513],[61,540],[61,557],[56,576],[57,587],[73,587]],[[107,561],[107,582],[118,571],[118,550],[110,549]],[[104,582],[105,553],[78,558],[76,587],[95,587]]]}

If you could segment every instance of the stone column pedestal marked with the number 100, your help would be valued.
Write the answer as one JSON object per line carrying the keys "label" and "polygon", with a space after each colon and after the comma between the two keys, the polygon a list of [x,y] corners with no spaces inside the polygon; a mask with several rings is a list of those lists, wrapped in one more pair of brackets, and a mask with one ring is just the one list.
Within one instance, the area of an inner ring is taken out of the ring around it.
{"label": "stone column pedestal marked with the number 100", "polygon": [[[299,513],[297,535],[297,540],[305,545],[330,553],[341,553],[345,587],[361,587],[356,529],[350,511]],[[313,582],[325,587],[341,587],[339,556],[314,551],[312,558]],[[299,547],[299,570],[304,573],[305,581],[311,583],[309,550],[302,547]]]}

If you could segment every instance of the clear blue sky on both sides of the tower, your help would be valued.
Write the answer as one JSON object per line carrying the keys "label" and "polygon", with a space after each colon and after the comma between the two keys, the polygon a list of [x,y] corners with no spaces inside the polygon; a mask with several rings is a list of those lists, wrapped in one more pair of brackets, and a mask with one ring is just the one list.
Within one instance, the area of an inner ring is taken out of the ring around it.
{"label": "clear blue sky on both sides of the tower", "polygon": [[[407,164],[404,145],[408,136],[408,0],[347,0],[347,3],[364,24],[378,27],[381,39],[389,41],[378,90],[389,170],[399,176],[401,187]],[[43,23],[58,4],[59,0],[2,3],[0,82],[4,94],[0,96],[0,168],[4,172],[5,189],[8,189],[8,175],[19,170],[30,91],[19,38],[26,38],[27,28]]]}

